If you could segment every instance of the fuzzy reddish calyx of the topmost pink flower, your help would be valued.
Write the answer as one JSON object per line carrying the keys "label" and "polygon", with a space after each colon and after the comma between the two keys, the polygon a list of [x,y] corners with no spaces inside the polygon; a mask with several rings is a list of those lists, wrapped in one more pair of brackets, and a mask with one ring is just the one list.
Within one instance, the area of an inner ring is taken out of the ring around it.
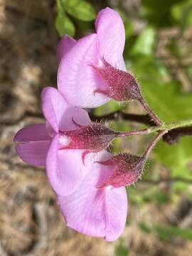
{"label": "fuzzy reddish calyx of the topmost pink flower", "polygon": [[102,58],[103,67],[96,67],[96,73],[107,82],[109,88],[107,90],[95,90],[95,93],[102,93],[107,97],[111,97],[117,101],[140,100],[142,98],[137,81],[133,75],[112,67],[105,58]]}

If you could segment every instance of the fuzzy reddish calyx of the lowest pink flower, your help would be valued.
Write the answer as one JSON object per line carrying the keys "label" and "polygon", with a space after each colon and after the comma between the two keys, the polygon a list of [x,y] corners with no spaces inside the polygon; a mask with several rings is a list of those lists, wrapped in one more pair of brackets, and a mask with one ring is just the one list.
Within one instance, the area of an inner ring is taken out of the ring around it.
{"label": "fuzzy reddish calyx of the lowest pink flower", "polygon": [[112,175],[98,188],[105,186],[119,188],[132,185],[141,176],[145,161],[144,156],[133,156],[132,154],[119,154],[107,161],[97,161],[98,164],[114,166]]}

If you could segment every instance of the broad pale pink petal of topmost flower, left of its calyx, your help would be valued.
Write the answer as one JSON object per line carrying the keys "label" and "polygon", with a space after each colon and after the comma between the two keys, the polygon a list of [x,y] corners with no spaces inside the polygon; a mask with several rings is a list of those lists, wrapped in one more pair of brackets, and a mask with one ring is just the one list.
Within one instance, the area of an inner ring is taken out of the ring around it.
{"label": "broad pale pink petal of topmost flower, left of its calyx", "polygon": [[81,38],[65,55],[58,68],[58,90],[78,107],[97,107],[110,99],[95,90],[106,87],[90,65],[99,65],[97,35]]}

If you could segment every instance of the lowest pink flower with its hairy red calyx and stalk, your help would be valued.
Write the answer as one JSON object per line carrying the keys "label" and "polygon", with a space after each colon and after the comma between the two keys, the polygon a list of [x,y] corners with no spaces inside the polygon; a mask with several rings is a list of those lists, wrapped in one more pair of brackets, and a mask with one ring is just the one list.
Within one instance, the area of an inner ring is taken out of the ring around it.
{"label": "lowest pink flower with its hairy red calyx and stalk", "polygon": [[146,159],[164,133],[156,135],[143,156],[113,156],[107,151],[94,155],[94,164],[77,190],[69,196],[58,196],[67,225],[80,233],[103,237],[107,241],[119,238],[127,218],[125,186],[137,182]]}

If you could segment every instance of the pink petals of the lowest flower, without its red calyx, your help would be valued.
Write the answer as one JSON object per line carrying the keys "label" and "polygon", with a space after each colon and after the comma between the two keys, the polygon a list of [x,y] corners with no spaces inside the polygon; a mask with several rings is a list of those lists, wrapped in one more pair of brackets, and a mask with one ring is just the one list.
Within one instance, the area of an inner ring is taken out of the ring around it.
{"label": "pink petals of the lowest flower, without its red calyx", "polygon": [[108,241],[119,238],[127,218],[125,188],[97,188],[111,172],[110,166],[95,163],[74,193],[58,196],[70,228]]}

